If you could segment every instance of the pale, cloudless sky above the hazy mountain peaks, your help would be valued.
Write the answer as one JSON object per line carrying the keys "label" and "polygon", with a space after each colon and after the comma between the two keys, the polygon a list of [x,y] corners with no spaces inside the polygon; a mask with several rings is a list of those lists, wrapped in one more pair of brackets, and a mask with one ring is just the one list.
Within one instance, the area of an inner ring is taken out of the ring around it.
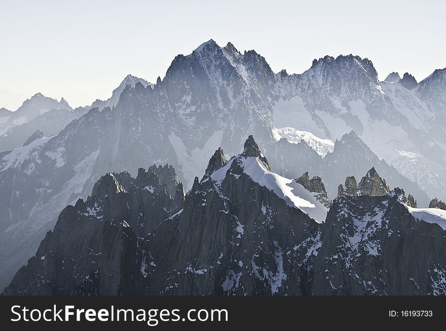
{"label": "pale, cloudless sky above the hazy mountain peaks", "polygon": [[446,67],[446,2],[0,0],[0,107],[41,92],[72,107],[107,99],[129,73],[156,82],[173,58],[214,39],[254,49],[273,71],[325,55],[370,59],[422,80]]}

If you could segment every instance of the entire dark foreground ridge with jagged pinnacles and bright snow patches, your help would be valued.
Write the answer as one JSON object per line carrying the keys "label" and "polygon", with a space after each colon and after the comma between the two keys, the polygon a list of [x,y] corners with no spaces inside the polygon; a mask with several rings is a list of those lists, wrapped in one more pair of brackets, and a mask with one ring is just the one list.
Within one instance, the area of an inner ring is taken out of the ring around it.
{"label": "entire dark foreground ridge with jagged pinnacles and bright snow patches", "polygon": [[446,295],[446,211],[374,168],[340,187],[323,203],[320,177],[271,172],[252,136],[188,194],[171,166],[107,173],[3,294]]}

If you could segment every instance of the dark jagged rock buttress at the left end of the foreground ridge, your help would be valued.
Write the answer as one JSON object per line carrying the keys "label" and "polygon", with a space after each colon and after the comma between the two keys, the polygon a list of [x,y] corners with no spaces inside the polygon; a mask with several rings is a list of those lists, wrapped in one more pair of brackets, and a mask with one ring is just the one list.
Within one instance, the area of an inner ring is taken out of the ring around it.
{"label": "dark jagged rock buttress at the left end of the foreground ridge", "polygon": [[[177,179],[164,183],[152,168],[141,168],[136,178],[128,173],[102,176],[87,201],[79,199],[62,211],[5,294],[141,294],[134,276],[141,263],[139,244],[184,201],[184,195],[171,198],[166,189],[171,181],[182,190]],[[31,282],[23,286],[27,279]]]}

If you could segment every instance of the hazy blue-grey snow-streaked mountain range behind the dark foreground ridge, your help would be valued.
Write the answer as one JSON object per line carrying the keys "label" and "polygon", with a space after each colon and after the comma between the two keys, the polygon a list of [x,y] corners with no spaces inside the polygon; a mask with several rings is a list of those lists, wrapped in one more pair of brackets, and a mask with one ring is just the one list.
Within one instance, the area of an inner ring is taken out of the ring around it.
{"label": "hazy blue-grey snow-streaked mountain range behind the dark foreground ridge", "polygon": [[[255,51],[209,40],[176,56],[156,84],[129,75],[110,99],[88,107],[36,95],[26,107],[0,112],[0,285],[34,255],[65,206],[91,194],[103,174],[127,171],[117,181],[128,191],[122,181],[137,179],[140,167],[169,163],[191,194],[210,155],[219,147],[238,155],[249,135],[270,169],[290,179],[319,176],[330,200],[347,176],[359,179],[371,168],[419,206],[445,200],[446,69],[420,82],[411,77],[392,73],[379,81],[371,61],[352,55],[314,60],[302,74],[274,73]],[[42,137],[29,142],[38,130]],[[313,227],[305,231],[317,236]],[[164,285],[160,280],[156,288]]]}

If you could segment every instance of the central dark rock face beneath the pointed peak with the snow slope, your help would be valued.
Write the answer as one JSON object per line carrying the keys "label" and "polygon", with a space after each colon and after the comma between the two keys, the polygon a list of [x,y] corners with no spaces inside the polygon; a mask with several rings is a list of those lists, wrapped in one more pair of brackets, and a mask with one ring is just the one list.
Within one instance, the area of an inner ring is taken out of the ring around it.
{"label": "central dark rock face beneath the pointed peak with the snow slope", "polygon": [[[181,214],[148,238],[145,250],[157,265],[147,275],[150,294],[305,294],[303,261],[319,225],[253,182],[237,160],[221,184],[194,185]],[[174,258],[164,263],[163,251]]]}

